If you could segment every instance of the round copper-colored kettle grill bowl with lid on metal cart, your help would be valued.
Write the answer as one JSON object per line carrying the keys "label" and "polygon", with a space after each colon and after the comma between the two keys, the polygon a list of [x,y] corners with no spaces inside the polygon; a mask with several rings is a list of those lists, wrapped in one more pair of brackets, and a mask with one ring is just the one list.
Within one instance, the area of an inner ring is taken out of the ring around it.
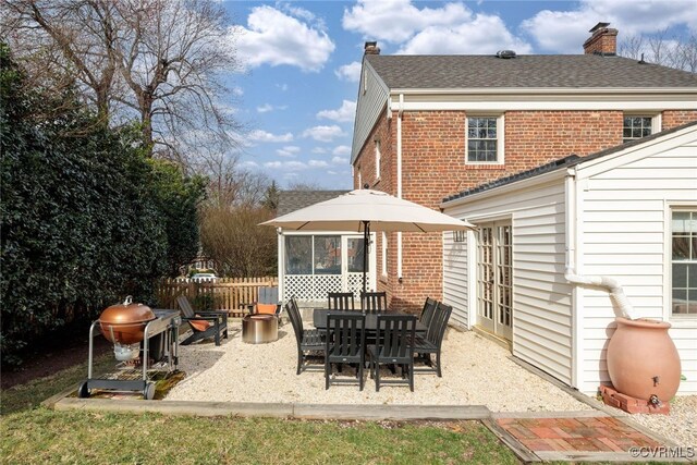
{"label": "round copper-colored kettle grill bowl with lid on metal cart", "polygon": [[99,316],[101,334],[112,344],[130,345],[143,341],[143,331],[155,314],[147,305],[134,304],[130,295],[123,304],[112,305]]}

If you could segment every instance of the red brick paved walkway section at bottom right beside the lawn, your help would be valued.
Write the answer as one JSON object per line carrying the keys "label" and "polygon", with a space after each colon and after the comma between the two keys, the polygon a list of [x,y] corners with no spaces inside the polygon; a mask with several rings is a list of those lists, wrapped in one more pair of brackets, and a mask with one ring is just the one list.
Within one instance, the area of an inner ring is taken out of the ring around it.
{"label": "red brick paved walkway section at bottom right beside the lawn", "polygon": [[498,425],[533,452],[620,452],[661,444],[612,417],[499,418]]}

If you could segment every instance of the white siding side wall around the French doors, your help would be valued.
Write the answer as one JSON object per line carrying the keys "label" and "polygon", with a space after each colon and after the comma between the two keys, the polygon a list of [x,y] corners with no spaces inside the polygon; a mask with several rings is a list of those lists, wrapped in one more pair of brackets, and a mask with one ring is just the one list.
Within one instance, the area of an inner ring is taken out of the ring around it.
{"label": "white siding side wall around the French doors", "polygon": [[[513,194],[499,191],[444,212],[475,224],[512,219],[513,355],[571,384],[572,286],[564,279],[563,179]],[[448,304],[462,306],[467,302],[467,271],[473,268],[464,265],[466,248],[457,246],[445,234],[443,295]]]}

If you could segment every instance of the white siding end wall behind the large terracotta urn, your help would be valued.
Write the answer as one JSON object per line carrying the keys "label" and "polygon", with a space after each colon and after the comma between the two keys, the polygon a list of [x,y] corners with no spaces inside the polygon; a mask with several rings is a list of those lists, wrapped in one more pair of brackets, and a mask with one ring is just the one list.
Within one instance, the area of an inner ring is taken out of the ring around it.
{"label": "white siding end wall behind the large terracotta urn", "polygon": [[[671,319],[670,205],[697,206],[697,142],[655,144],[623,159],[579,169],[579,264],[583,274],[615,278],[639,316],[669,319],[678,348],[683,375],[678,393],[697,392],[697,317]],[[584,174],[587,171],[587,174]],[[587,180],[584,180],[588,176]],[[587,184],[586,184],[587,183]],[[584,335],[579,390],[595,393],[609,381],[608,340],[614,332],[614,313],[608,294],[583,289],[580,309]]]}

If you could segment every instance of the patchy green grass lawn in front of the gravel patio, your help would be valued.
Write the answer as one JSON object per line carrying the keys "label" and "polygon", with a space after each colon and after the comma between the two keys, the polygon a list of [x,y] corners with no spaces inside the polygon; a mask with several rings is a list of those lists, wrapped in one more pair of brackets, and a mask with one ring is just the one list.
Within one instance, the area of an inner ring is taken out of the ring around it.
{"label": "patchy green grass lawn in front of the gravel patio", "polygon": [[[98,366],[113,365],[110,356]],[[7,464],[517,463],[478,421],[301,421],[54,412],[38,406],[86,376],[83,365],[2,392]]]}

